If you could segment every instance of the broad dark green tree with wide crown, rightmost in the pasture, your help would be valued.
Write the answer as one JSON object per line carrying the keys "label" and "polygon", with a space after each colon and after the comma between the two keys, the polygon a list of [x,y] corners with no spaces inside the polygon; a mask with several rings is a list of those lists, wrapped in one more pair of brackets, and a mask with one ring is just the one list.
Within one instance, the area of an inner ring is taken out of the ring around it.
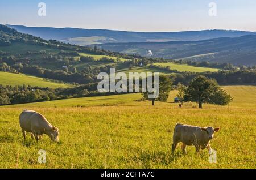
{"label": "broad dark green tree with wide crown, rightmost in the pasture", "polygon": [[227,105],[233,97],[221,89],[216,80],[197,76],[185,89],[184,100],[197,102],[199,108],[203,108],[203,103]]}

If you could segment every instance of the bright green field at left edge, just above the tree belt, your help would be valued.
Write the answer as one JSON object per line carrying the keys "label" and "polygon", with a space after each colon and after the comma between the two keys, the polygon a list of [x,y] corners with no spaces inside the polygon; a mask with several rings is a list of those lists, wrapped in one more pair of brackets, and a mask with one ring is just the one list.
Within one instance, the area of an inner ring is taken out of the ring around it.
{"label": "bright green field at left edge, just above the tree belt", "polygon": [[30,85],[32,87],[49,87],[49,88],[67,88],[71,87],[68,84],[54,83],[25,74],[13,74],[9,72],[0,72],[0,84],[2,85]]}

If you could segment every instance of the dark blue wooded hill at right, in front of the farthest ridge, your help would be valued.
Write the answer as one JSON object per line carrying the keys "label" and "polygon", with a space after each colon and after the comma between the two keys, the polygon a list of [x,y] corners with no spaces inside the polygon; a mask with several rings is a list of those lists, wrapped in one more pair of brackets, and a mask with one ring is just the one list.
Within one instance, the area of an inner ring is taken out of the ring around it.
{"label": "dark blue wooded hill at right, in front of the farthest ridge", "polygon": [[220,37],[203,41],[130,42],[97,45],[114,52],[152,57],[256,65],[256,36]]}

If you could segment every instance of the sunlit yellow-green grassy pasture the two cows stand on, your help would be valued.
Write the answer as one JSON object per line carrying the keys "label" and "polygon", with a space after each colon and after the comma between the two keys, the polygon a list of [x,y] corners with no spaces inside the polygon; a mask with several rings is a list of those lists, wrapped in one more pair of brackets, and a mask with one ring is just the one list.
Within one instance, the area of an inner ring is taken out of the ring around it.
{"label": "sunlit yellow-green grassy pasture the two cows stand on", "polygon": [[[1,106],[0,168],[256,168],[255,98],[251,101],[256,87],[224,88],[234,102],[204,104],[204,109],[188,104],[179,108],[172,102],[177,91],[171,92],[169,102],[157,101],[155,106],[134,101],[140,94]],[[77,104],[85,107],[72,107]],[[51,143],[46,135],[38,143],[28,135],[23,140],[18,117],[24,108],[44,114],[58,127],[60,142]],[[217,151],[216,164],[209,163],[206,150],[197,156],[188,147],[183,155],[180,144],[171,156],[177,122],[221,128],[210,143]],[[46,164],[38,163],[39,149],[46,151]]]}

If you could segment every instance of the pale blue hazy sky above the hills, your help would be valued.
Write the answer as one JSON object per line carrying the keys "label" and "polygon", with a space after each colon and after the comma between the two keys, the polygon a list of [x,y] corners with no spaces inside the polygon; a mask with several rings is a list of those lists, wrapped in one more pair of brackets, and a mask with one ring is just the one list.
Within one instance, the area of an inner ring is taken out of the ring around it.
{"label": "pale blue hazy sky above the hills", "polygon": [[[46,16],[38,3],[46,3]],[[209,3],[217,16],[209,16]],[[23,0],[0,1],[0,23],[170,32],[200,29],[256,31],[256,0]]]}

